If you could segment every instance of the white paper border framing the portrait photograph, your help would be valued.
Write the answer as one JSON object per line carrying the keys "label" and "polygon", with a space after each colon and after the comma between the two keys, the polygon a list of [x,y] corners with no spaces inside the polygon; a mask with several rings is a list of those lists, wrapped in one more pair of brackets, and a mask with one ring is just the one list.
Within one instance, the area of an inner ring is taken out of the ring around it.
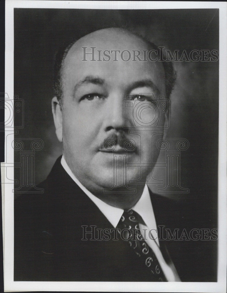
{"label": "white paper border framing the portrait photograph", "polygon": [[[13,281],[13,183],[6,178],[4,194],[4,289],[9,291],[116,291],[116,292],[226,292],[226,2],[178,2],[178,1],[21,1],[6,0],[6,49],[5,49],[5,92],[14,96],[13,8],[89,8],[89,9],[181,9],[219,8],[219,169],[218,169],[218,281],[217,282],[14,282]],[[11,135],[9,135],[11,134]],[[13,130],[5,132],[9,145],[13,142]],[[5,139],[6,142],[6,139]],[[13,149],[5,145],[5,162],[13,162]],[[9,170],[8,170],[9,169]],[[13,178],[13,168],[7,169],[7,177]],[[209,257],[209,256],[208,256]]]}

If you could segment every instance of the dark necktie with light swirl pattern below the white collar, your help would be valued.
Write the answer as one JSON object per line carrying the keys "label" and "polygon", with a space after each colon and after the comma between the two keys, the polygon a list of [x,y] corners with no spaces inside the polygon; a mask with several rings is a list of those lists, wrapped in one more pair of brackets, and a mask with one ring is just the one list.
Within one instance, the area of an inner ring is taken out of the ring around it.
{"label": "dark necktie with light swirl pattern below the white collar", "polygon": [[[124,211],[117,228],[123,230],[124,239],[127,239],[130,248],[138,255],[140,261],[144,263],[146,269],[150,270],[151,275],[156,282],[166,282],[166,278],[154,254],[154,251],[147,245],[143,239],[139,222],[144,224],[142,218],[132,209]],[[130,232],[130,233],[129,233]],[[128,235],[125,235],[129,233]],[[128,237],[127,237],[128,236]]]}

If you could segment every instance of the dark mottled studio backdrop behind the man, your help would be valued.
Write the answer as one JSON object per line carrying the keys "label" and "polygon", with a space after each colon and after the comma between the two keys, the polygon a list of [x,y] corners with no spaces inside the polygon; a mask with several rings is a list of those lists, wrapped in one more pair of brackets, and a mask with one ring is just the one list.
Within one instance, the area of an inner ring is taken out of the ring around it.
{"label": "dark mottled studio backdrop behind the man", "polygon": [[[14,94],[24,100],[25,106],[24,127],[15,138],[40,138],[44,142],[43,149],[35,153],[36,185],[46,178],[61,154],[51,113],[54,55],[72,37],[113,26],[140,33],[172,52],[219,50],[218,9],[15,8]],[[174,67],[178,78],[171,95],[167,137],[185,138],[190,143],[188,150],[181,153],[181,185],[190,192],[162,195],[193,202],[198,223],[216,228],[219,62],[174,62]],[[15,162],[19,161],[20,153],[15,151]],[[164,161],[164,154],[159,161]],[[161,169],[156,168],[155,178],[161,179]],[[18,168],[15,179],[20,179]],[[157,192],[164,185],[149,187]]]}

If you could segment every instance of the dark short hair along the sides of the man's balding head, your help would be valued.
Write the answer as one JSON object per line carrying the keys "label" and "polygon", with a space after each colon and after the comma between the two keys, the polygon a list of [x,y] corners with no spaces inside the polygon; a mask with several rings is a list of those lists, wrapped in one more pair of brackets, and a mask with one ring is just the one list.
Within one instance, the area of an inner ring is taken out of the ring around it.
{"label": "dark short hair along the sides of the man's balding head", "polygon": [[[159,52],[159,48],[154,43],[146,40],[144,37],[142,37],[139,34],[132,33],[131,31],[124,29],[128,31],[130,34],[133,34],[142,40],[144,40],[147,44],[149,44],[151,47],[153,47],[157,52]],[[62,110],[63,105],[63,85],[62,85],[62,75],[63,75],[63,65],[64,60],[68,54],[68,51],[70,48],[75,44],[77,39],[74,39],[73,41],[68,42],[67,44],[63,45],[61,48],[59,48],[56,56],[55,56],[55,62],[54,62],[54,74],[53,74],[53,87],[54,87],[54,96],[57,97],[59,101],[60,108]],[[176,81],[176,71],[173,68],[173,64],[171,61],[161,61],[164,67],[165,71],[165,83],[166,83],[166,99],[170,99],[171,92],[173,90],[175,81]]]}

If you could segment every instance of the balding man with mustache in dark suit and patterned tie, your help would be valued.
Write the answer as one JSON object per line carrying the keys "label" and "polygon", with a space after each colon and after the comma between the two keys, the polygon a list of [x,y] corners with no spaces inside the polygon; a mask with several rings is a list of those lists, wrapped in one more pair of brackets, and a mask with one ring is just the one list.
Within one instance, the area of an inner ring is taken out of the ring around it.
{"label": "balding man with mustache in dark suit and patterned tie", "polygon": [[[104,50],[120,58],[106,58]],[[154,239],[145,234],[160,225],[176,228],[183,218],[176,205],[145,184],[148,165],[159,155],[167,106],[158,113],[157,127],[145,125],[157,118],[153,101],[169,99],[174,72],[169,62],[125,61],[122,54],[143,50],[156,47],[127,30],[109,28],[64,51],[52,99],[63,156],[39,185],[42,195],[22,195],[15,202],[14,280],[190,280],[190,259],[182,262],[185,243],[164,243],[159,232],[149,235]],[[135,125],[132,111],[139,103],[145,107]],[[120,232],[103,238],[105,229],[115,228]],[[123,228],[140,240],[123,236]]]}

